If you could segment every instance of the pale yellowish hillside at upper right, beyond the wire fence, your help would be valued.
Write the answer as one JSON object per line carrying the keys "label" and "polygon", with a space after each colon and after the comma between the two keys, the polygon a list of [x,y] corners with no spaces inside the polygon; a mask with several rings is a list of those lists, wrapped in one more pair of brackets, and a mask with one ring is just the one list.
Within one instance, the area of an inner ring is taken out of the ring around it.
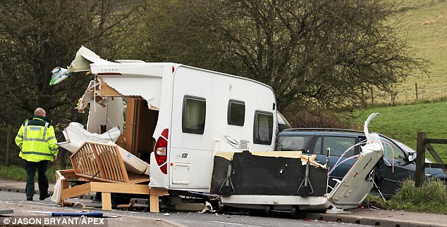
{"label": "pale yellowish hillside at upper right, beyond the wire fence", "polygon": [[[394,1],[394,0],[386,0]],[[419,100],[441,100],[447,96],[447,1],[404,0],[398,7],[399,37],[407,40],[415,57],[430,61],[429,75],[412,72],[399,86],[396,103],[416,101],[415,83]],[[391,19],[391,22],[395,22]],[[391,98],[376,98],[379,103],[391,103]]]}

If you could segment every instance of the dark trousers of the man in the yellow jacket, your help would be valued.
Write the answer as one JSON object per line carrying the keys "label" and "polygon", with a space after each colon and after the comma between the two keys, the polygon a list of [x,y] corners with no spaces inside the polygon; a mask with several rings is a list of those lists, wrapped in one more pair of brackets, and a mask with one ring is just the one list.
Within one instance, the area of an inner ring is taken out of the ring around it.
{"label": "dark trousers of the man in the yellow jacket", "polygon": [[40,162],[25,161],[26,169],[26,197],[32,198],[34,195],[34,176],[37,169],[37,183],[39,184],[40,199],[45,199],[48,194],[48,178],[45,172],[48,169],[48,160]]}

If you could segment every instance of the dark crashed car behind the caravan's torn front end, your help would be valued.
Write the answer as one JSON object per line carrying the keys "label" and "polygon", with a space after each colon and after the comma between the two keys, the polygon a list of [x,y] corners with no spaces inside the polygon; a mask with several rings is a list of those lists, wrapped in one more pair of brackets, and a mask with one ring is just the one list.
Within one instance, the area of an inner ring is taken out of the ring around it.
{"label": "dark crashed car behind the caravan's torn front end", "polygon": [[[374,181],[385,197],[391,197],[402,181],[414,179],[415,151],[399,141],[384,135],[380,136],[384,141],[384,159],[376,165]],[[328,148],[331,148],[330,169],[337,161],[343,162],[333,169],[329,176],[331,187],[336,183],[332,179],[343,179],[355,162],[355,155],[360,154],[360,146],[357,144],[365,140],[366,136],[362,131],[346,129],[286,129],[279,134],[280,150],[301,150],[305,154],[315,154],[316,160],[321,164],[326,164]],[[341,157],[343,153],[345,155]],[[427,179],[437,178],[447,181],[447,175],[442,169],[426,168],[425,174]]]}

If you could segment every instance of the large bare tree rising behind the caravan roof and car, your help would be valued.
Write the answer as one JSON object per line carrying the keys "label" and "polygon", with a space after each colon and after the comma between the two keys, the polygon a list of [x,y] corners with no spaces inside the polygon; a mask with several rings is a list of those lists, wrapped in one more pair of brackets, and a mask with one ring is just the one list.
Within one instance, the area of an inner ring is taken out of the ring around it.
{"label": "large bare tree rising behind the caravan roof and car", "polygon": [[279,110],[350,110],[368,98],[362,90],[388,91],[424,69],[388,25],[387,1],[154,2],[142,17],[147,59],[264,82]]}

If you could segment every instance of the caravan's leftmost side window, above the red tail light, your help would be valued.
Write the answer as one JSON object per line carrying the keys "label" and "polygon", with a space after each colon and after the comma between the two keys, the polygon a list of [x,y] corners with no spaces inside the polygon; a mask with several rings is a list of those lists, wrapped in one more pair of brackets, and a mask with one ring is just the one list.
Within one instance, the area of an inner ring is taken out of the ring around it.
{"label": "caravan's leftmost side window, above the red tail light", "polygon": [[195,96],[183,98],[182,131],[203,134],[205,129],[206,100]]}

